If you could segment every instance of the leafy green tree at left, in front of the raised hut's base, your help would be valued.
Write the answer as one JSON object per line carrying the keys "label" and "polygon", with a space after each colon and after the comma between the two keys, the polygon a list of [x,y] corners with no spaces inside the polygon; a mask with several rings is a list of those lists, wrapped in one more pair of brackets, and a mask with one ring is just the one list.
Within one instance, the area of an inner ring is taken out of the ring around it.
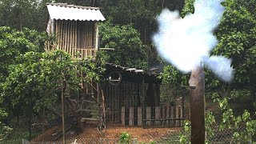
{"label": "leafy green tree at left, in front of the raised hut's base", "polygon": [[[9,114],[0,119],[2,128],[6,127],[2,122],[23,115],[30,128],[32,115],[59,103],[62,88],[66,95],[76,93],[81,90],[81,82],[98,82],[104,70],[98,65],[102,62],[95,63],[91,58],[73,59],[60,50],[44,52],[41,45],[44,34],[34,30],[20,32],[10,27],[0,30],[0,106]],[[81,72],[86,77],[79,75]]]}

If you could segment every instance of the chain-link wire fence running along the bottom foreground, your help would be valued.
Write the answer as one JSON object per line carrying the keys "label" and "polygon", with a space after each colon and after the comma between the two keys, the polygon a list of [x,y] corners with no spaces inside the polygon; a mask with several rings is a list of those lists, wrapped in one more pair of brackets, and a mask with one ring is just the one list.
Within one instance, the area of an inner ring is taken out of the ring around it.
{"label": "chain-link wire fence running along the bottom foreground", "polygon": [[[246,133],[246,129],[241,127],[239,130],[214,130],[212,135],[206,135],[206,142],[210,144],[236,144],[236,143],[253,143],[250,141],[242,141],[234,138],[235,133]],[[190,142],[190,131],[170,131],[159,134],[143,134],[140,137],[132,135],[129,143],[132,144],[179,144]],[[26,140],[5,140],[0,141],[0,144],[62,144],[62,140],[48,142],[29,142]],[[66,139],[66,144],[119,144],[118,138],[73,138]],[[120,143],[121,144],[121,143]]]}

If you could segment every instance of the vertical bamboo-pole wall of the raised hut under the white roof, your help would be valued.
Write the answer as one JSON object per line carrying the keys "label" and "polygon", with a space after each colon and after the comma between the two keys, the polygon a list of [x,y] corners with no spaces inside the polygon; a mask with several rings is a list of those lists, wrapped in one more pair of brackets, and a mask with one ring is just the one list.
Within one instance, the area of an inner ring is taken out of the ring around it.
{"label": "vertical bamboo-pole wall of the raised hut under the white roof", "polygon": [[92,21],[56,20],[54,24],[57,48],[74,58],[94,56],[98,47],[98,26]]}

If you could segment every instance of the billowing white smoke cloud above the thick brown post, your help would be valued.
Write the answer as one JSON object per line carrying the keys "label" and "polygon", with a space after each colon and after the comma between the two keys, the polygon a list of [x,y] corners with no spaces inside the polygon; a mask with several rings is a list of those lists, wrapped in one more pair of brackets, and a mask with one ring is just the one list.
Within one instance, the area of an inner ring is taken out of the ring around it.
{"label": "billowing white smoke cloud above the thick brown post", "polygon": [[210,51],[218,44],[213,31],[224,12],[222,1],[196,0],[194,14],[186,14],[185,18],[177,10],[162,10],[158,16],[158,33],[153,36],[158,53],[184,73],[204,62],[219,78],[230,82],[231,61],[222,56],[210,58]]}

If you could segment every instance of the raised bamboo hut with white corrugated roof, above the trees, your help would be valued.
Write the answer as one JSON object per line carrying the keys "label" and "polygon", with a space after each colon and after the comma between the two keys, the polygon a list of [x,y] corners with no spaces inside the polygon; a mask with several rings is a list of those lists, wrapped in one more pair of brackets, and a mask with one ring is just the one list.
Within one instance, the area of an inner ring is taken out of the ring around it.
{"label": "raised bamboo hut with white corrugated roof, above the trees", "polygon": [[47,50],[65,50],[76,58],[94,56],[98,50],[98,21],[104,21],[98,7],[49,3],[47,32],[53,40]]}

